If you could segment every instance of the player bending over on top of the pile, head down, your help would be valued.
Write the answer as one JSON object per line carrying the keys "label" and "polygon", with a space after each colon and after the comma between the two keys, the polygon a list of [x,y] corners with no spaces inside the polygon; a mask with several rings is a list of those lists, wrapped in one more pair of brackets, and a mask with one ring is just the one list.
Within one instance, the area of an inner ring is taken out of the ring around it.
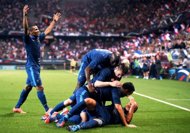
{"label": "player bending over on top of the pile, head down", "polygon": [[115,67],[119,64],[120,57],[105,49],[93,49],[86,53],[81,61],[76,89],[87,81],[89,89],[92,89],[90,76],[103,68]]}

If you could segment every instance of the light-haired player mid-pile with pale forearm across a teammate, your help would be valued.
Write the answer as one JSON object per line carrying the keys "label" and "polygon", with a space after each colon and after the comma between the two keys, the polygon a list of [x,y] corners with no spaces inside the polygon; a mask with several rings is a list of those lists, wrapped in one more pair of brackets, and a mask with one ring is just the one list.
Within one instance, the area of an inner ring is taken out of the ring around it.
{"label": "light-haired player mid-pile with pale forearm across a teammate", "polygon": [[[104,87],[104,86],[120,87],[121,86],[120,82],[118,81],[111,82],[111,80],[120,79],[122,76],[122,73],[123,73],[123,70],[119,66],[115,67],[114,69],[104,68],[93,78],[92,82],[94,83],[94,85],[96,85],[96,82],[98,82],[97,87]],[[88,90],[87,85],[80,87],[73,93],[73,95],[70,98],[56,105],[52,109],[52,111],[50,111],[50,116],[54,112],[61,111],[66,106],[81,102],[85,98],[89,97],[89,95],[90,95],[90,92]],[[46,123],[49,123],[48,119],[46,120]]]}

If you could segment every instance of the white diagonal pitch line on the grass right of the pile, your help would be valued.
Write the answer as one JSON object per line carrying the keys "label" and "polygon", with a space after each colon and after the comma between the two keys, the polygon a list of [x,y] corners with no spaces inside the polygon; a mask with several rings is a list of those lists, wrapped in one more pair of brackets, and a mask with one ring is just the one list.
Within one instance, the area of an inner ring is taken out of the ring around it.
{"label": "white diagonal pitch line on the grass right of the pile", "polygon": [[169,102],[166,102],[166,101],[154,98],[154,97],[150,97],[150,96],[140,94],[137,92],[135,92],[134,94],[190,112],[190,109],[188,109],[188,108],[184,108],[184,107],[181,107],[181,106],[178,106],[178,105],[175,105],[175,104],[172,104],[172,103],[169,103]]}

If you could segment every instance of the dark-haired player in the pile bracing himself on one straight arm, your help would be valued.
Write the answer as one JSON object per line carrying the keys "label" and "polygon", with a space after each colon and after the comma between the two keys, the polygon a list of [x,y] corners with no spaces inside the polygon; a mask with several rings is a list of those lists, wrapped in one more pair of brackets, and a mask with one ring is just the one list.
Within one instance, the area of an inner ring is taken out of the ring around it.
{"label": "dark-haired player in the pile bracing himself on one straight arm", "polygon": [[[121,106],[120,98],[124,96],[129,96],[134,92],[135,88],[133,84],[130,82],[126,82],[122,85],[120,89],[118,89],[117,87],[104,87],[103,89],[97,89],[97,90],[98,94],[97,97],[95,97],[94,99],[96,103],[98,103],[98,105],[102,105],[101,104],[102,101],[112,101],[112,105],[118,111],[119,117],[123,125],[128,127],[125,114]],[[63,127],[71,116],[80,113],[86,107],[88,100],[89,98],[85,98],[82,102],[74,105],[72,109],[69,111],[69,113],[57,122],[56,124],[57,127]]]}

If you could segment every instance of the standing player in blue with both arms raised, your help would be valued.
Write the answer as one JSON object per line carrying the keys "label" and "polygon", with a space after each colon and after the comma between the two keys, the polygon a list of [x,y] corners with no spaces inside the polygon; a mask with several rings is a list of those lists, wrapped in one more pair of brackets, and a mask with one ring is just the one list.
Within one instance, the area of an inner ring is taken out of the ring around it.
{"label": "standing player in blue with both arms raised", "polygon": [[46,28],[43,33],[40,33],[38,27],[36,25],[32,26],[29,29],[28,25],[28,12],[29,7],[25,5],[23,8],[23,28],[24,28],[24,44],[27,53],[27,62],[26,62],[26,72],[27,72],[27,81],[26,87],[22,90],[20,94],[20,98],[13,108],[13,112],[15,113],[26,113],[20,107],[25,102],[28,94],[31,89],[35,87],[37,89],[37,96],[43,105],[45,111],[49,110],[47,105],[46,97],[44,94],[44,88],[42,86],[42,82],[40,79],[40,46],[41,42],[45,39],[45,36],[49,34],[56,22],[60,19],[61,14],[56,13],[53,16],[53,20],[50,25]]}

